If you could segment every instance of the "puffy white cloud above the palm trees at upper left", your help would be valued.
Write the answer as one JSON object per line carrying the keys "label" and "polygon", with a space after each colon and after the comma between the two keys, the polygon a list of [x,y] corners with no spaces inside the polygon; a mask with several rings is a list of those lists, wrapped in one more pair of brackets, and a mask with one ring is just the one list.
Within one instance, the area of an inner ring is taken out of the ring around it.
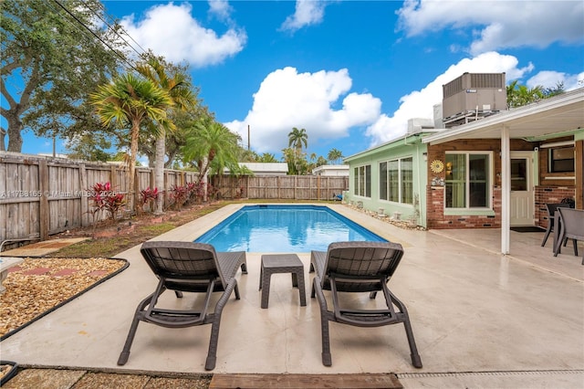
{"label": "puffy white cloud above the palm trees at upper left", "polygon": [[[219,9],[218,5],[213,6],[215,11]],[[141,47],[151,48],[171,62],[187,61],[194,68],[221,63],[244,48],[245,31],[232,27],[218,36],[214,30],[201,26],[191,10],[188,3],[154,5],[141,20],[134,20],[132,14],[120,23]]]}

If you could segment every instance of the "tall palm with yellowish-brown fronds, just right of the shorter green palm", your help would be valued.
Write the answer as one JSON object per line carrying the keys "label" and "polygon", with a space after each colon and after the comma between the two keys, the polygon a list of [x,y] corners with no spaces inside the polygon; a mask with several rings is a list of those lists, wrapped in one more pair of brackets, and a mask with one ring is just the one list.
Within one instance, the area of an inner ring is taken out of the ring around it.
{"label": "tall palm with yellowish-brown fronds, just right of the shorter green palm", "polygon": [[[141,75],[150,79],[159,88],[166,90],[171,96],[174,110],[186,110],[192,106],[195,99],[191,89],[191,83],[185,74],[177,70],[172,77],[166,72],[164,65],[157,58],[149,58],[146,63],[138,65]],[[170,108],[170,107],[169,107]],[[156,137],[156,158],[154,163],[154,184],[161,190],[164,187],[164,157],[166,154],[166,131],[159,125]],[[155,214],[162,214],[162,196],[156,199]]]}

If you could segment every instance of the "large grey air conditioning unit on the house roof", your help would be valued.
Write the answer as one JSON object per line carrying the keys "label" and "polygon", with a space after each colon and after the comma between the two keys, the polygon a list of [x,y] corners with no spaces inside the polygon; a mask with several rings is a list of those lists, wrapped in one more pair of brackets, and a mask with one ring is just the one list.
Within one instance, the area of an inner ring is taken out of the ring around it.
{"label": "large grey air conditioning unit on the house roof", "polygon": [[464,73],[443,85],[446,128],[476,121],[506,110],[505,73]]}

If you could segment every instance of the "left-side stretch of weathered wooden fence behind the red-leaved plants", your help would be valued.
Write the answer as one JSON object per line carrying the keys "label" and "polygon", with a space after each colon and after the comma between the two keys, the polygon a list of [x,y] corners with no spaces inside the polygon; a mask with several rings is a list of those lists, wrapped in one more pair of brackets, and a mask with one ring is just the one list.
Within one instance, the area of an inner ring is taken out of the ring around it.
{"label": "left-side stretch of weathered wooden fence behind the red-leaved plants", "polygon": [[[195,181],[197,173],[166,170],[164,176],[171,188]],[[112,192],[129,193],[126,170],[118,164],[0,152],[0,242],[45,240],[107,217],[94,220],[89,199],[94,184],[107,182]],[[134,195],[154,186],[152,169],[137,167]]]}

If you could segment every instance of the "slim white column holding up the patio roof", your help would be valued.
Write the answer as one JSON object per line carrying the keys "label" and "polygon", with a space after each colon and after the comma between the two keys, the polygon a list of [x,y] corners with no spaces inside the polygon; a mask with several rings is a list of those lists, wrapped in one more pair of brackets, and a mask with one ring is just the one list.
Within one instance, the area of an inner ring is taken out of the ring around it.
{"label": "slim white column holding up the patio roof", "polygon": [[501,253],[509,254],[510,203],[511,199],[511,159],[509,128],[501,129]]}

